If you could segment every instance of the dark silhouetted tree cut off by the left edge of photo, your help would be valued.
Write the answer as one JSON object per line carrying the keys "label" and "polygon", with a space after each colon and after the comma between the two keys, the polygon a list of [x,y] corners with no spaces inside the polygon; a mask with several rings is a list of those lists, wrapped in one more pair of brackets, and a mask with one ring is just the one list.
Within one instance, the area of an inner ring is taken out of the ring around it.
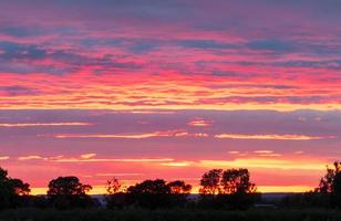
{"label": "dark silhouetted tree cut off by the left edge of photo", "polygon": [[0,168],[0,209],[20,207],[30,191],[29,183],[8,177],[8,171]]}

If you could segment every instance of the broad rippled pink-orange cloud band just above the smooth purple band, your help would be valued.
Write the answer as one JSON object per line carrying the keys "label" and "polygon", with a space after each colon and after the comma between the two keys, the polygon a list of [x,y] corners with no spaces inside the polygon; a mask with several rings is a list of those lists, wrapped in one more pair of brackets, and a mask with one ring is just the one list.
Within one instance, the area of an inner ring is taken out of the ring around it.
{"label": "broad rippled pink-orange cloud band just above the smooth purple band", "polygon": [[[1,109],[113,109],[132,112],[176,110],[176,109],[276,109],[297,110],[341,109],[341,104],[335,95],[338,91],[334,84],[309,78],[313,76],[313,70],[302,74],[300,84],[287,78],[278,80],[279,84],[292,88],[286,90],[276,85],[264,84],[265,81],[273,81],[275,71],[286,70],[255,70],[245,66],[230,66],[235,72],[255,73],[246,83],[245,80],[234,80],[229,76],[196,75],[185,76],[180,74],[140,74],[132,76],[101,75],[75,73],[73,76],[51,76],[46,74],[27,75],[3,73],[0,85],[18,85],[29,88],[39,88],[44,93],[18,95],[3,94],[0,99]],[[232,70],[230,70],[232,71]],[[265,73],[259,75],[259,71]],[[301,71],[301,70],[300,70]],[[105,81],[103,81],[105,76]],[[327,76],[326,76],[327,77]],[[231,83],[232,81],[232,83]],[[288,81],[288,82],[287,82]],[[313,82],[316,81],[316,82]],[[45,86],[41,82],[46,82]],[[313,82],[314,90],[311,88]],[[70,84],[73,86],[70,87]],[[145,86],[148,85],[146,90]],[[262,87],[264,85],[264,87]],[[165,90],[173,88],[173,90]],[[329,90],[326,90],[329,88]],[[63,93],[68,91],[68,93]],[[1,93],[1,92],[0,92]],[[115,96],[113,96],[115,94]],[[321,97],[311,99],[311,96]],[[292,97],[297,97],[293,99]],[[198,125],[202,123],[198,122]]]}

